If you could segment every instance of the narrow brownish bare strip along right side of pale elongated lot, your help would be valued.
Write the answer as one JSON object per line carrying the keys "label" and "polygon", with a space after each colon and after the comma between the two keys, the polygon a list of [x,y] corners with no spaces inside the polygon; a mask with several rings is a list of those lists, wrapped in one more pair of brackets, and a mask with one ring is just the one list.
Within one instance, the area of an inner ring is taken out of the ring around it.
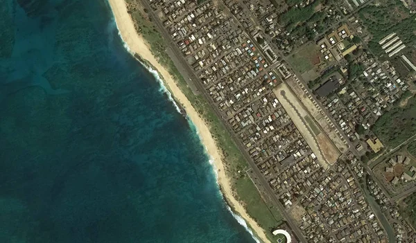
{"label": "narrow brownish bare strip along right side of pale elongated lot", "polygon": [[302,84],[294,78],[289,79],[287,84],[291,87],[297,98],[300,99],[300,102],[304,104],[309,114],[311,114],[311,117],[320,125],[323,132],[329,136],[329,139],[331,139],[336,148],[342,153],[346,152],[348,146],[343,141],[343,138],[338,134],[327,115],[324,114],[324,111],[309,98],[309,94],[304,91],[305,89],[302,87]]}

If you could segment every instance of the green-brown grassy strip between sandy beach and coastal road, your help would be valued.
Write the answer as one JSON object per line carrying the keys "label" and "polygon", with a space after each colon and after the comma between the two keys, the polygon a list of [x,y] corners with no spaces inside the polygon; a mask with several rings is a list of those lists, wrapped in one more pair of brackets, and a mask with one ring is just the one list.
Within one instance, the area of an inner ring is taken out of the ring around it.
{"label": "green-brown grassy strip between sandy beach and coastal road", "polygon": [[157,33],[153,27],[153,23],[143,17],[144,12],[136,10],[130,13],[136,21],[137,26],[140,26],[143,37],[150,42],[154,55],[159,57],[160,62],[168,68],[170,73],[177,80],[177,84],[182,92],[193,104],[193,107],[195,107],[209,123],[211,134],[214,136],[216,143],[225,157],[225,168],[227,174],[232,179],[232,188],[236,192],[237,199],[243,201],[248,214],[266,230],[269,239],[275,241],[270,230],[281,224],[281,214],[278,210],[272,208],[272,206],[263,201],[250,178],[242,172],[244,168],[248,167],[248,163],[232,140],[225,125],[223,125],[218,116],[216,116],[214,110],[204,97],[193,94],[188,87],[187,82],[182,78],[179,71],[177,71],[175,64],[173,64],[172,60],[164,51],[166,49],[164,39]]}

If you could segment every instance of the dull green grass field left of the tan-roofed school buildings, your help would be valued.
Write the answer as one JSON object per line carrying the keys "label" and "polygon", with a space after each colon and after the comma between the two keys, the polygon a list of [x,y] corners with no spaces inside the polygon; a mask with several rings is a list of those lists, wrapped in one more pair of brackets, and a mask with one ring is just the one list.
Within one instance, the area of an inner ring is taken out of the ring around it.
{"label": "dull green grass field left of the tan-roofed school buildings", "polygon": [[288,62],[300,73],[313,69],[315,63],[319,62],[318,47],[311,43],[300,48],[297,52],[288,56]]}

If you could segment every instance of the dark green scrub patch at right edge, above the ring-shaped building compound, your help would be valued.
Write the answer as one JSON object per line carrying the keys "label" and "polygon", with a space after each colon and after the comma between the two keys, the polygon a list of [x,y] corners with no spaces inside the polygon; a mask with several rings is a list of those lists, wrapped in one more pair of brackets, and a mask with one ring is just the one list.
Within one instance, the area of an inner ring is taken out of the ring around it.
{"label": "dark green scrub patch at right edge, above the ring-shaped building compound", "polygon": [[406,107],[395,106],[381,116],[372,131],[384,144],[396,147],[416,134],[416,99],[410,98]]}

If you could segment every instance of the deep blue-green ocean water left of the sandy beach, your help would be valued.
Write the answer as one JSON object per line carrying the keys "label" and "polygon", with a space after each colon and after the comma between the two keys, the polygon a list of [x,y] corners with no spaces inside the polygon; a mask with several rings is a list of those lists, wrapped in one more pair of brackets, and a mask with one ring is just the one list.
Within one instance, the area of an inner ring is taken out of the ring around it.
{"label": "deep blue-green ocean water left of the sandy beach", "polygon": [[0,3],[0,242],[254,242],[105,0]]}

